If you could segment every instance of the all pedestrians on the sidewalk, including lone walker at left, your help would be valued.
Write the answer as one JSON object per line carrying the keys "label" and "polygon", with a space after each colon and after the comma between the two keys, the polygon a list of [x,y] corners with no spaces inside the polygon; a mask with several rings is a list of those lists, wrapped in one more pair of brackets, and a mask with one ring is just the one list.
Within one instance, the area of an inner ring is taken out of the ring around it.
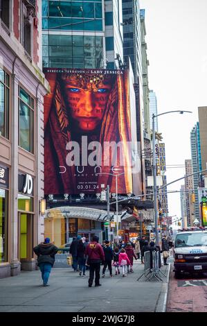
{"label": "all pedestrians on the sidewalk, including lone walker at left", "polygon": [[[102,277],[105,277],[106,271],[109,271],[110,277],[113,277],[112,268],[115,268],[115,275],[122,273],[123,277],[127,273],[134,273],[134,259],[141,258],[141,264],[144,264],[145,252],[150,251],[150,267],[152,268],[152,252],[158,250],[154,241],[148,243],[145,237],[136,239],[136,241],[120,241],[114,243],[113,246],[109,240],[105,240],[102,245],[98,243],[99,239],[94,235],[89,242],[89,239],[73,237],[73,241],[69,248],[69,253],[72,257],[72,268],[74,272],[79,272],[79,275],[86,276],[86,270],[89,269],[89,287],[93,284],[95,274],[95,286],[100,284],[100,268],[102,268]],[[55,254],[58,248],[51,243],[49,238],[46,238],[43,243],[40,243],[34,249],[37,255],[37,266],[42,273],[43,285],[48,286],[48,278],[51,273],[51,268],[55,262]],[[167,254],[169,251],[168,241],[164,236],[162,239],[162,251],[164,264],[167,264]]]}

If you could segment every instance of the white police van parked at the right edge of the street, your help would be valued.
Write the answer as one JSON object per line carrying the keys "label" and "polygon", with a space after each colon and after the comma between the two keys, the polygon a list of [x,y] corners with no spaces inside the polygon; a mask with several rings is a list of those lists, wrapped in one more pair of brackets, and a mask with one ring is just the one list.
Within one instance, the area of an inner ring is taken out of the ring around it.
{"label": "white police van parked at the right edge of the street", "polygon": [[174,277],[181,273],[207,273],[207,230],[177,233],[174,241]]}

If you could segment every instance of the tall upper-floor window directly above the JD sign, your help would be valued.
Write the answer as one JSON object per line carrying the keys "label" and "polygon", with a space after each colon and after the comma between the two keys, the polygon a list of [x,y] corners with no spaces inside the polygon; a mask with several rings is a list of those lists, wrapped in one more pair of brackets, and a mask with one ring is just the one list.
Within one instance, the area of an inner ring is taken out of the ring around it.
{"label": "tall upper-floor window directly above the JD sign", "polygon": [[34,153],[34,100],[19,87],[19,146]]}

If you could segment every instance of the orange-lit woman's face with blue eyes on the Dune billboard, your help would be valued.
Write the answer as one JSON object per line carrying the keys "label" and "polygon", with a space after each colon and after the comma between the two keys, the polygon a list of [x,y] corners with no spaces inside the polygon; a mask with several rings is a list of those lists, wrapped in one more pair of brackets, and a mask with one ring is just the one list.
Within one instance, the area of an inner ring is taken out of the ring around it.
{"label": "orange-lit woman's face with blue eyes on the Dune billboard", "polygon": [[65,85],[67,106],[71,117],[84,132],[95,130],[107,108],[111,85],[101,84],[96,90]]}

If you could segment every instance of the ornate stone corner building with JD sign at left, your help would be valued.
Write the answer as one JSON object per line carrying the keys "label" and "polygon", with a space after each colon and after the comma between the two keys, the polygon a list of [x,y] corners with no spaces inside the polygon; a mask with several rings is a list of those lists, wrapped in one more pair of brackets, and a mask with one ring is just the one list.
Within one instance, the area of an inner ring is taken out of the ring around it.
{"label": "ornate stone corner building with JD sign at left", "polygon": [[2,0],[0,17],[0,277],[36,268],[44,221],[43,101],[39,1]]}

